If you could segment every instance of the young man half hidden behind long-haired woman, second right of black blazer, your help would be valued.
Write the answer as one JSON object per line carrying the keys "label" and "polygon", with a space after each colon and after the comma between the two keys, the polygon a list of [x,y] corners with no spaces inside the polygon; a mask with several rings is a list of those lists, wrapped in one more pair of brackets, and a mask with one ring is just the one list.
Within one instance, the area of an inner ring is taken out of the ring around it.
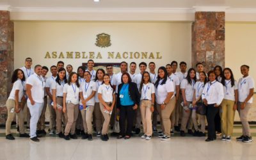
{"label": "young man half hidden behind long-haired woman, second right of black blazer", "polygon": [[[179,99],[179,94],[180,94],[180,80],[179,80],[179,77],[175,76],[175,74],[173,74],[172,65],[167,64],[166,65],[166,70],[167,70],[168,78],[171,81],[173,81],[174,95],[175,95],[176,102],[177,102],[177,100]],[[171,122],[172,122],[172,131],[171,131],[172,134],[174,134],[174,125],[175,125],[175,120],[176,120],[176,109],[177,108],[175,107],[173,112],[172,112],[172,115],[170,117]],[[177,109],[177,110],[179,110],[179,109]],[[179,116],[179,115],[177,115],[177,116]]]}

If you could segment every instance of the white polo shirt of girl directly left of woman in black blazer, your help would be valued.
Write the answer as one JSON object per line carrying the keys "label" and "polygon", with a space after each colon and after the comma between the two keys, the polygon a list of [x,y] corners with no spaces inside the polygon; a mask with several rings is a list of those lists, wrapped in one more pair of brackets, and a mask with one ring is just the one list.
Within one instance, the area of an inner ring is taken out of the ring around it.
{"label": "white polo shirt of girl directly left of woman in black blazer", "polygon": [[110,85],[102,84],[99,86],[98,93],[101,93],[104,102],[113,102],[113,88]]}

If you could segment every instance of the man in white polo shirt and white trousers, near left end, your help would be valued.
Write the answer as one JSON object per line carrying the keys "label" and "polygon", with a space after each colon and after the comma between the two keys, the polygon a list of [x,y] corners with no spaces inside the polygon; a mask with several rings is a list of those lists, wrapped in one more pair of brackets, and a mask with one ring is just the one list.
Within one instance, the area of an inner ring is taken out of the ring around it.
{"label": "man in white polo shirt and white trousers, near left end", "polygon": [[35,66],[35,73],[29,76],[26,81],[26,93],[28,95],[28,108],[31,114],[30,119],[30,139],[39,142],[36,136],[36,124],[40,118],[44,105],[44,79],[41,76],[42,66]]}

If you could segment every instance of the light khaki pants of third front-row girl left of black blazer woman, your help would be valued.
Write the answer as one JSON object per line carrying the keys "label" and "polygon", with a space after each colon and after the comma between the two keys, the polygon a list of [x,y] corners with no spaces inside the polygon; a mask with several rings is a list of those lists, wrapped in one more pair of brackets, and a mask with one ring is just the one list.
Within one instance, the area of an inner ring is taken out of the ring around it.
{"label": "light khaki pants of third front-row girl left of black blazer woman", "polygon": [[76,133],[76,120],[79,112],[79,104],[66,104],[67,105],[67,115],[68,122],[65,127],[65,136]]}

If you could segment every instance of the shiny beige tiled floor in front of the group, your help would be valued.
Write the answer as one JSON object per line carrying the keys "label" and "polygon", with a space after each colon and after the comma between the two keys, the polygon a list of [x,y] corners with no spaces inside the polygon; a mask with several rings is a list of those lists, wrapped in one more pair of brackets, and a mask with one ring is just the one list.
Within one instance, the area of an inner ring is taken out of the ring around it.
{"label": "shiny beige tiled floor in front of the group", "polygon": [[[13,129],[15,132],[15,129]],[[234,129],[235,136],[240,135],[241,127]],[[252,127],[256,140],[256,128]],[[93,137],[93,141],[70,140],[46,136],[40,143],[16,137],[10,141],[4,138],[4,129],[0,129],[0,159],[256,159],[256,144],[218,140],[205,142],[205,138],[187,136],[181,138],[178,133],[169,141],[160,141],[156,136],[152,140],[133,137],[130,140],[101,141]]]}

